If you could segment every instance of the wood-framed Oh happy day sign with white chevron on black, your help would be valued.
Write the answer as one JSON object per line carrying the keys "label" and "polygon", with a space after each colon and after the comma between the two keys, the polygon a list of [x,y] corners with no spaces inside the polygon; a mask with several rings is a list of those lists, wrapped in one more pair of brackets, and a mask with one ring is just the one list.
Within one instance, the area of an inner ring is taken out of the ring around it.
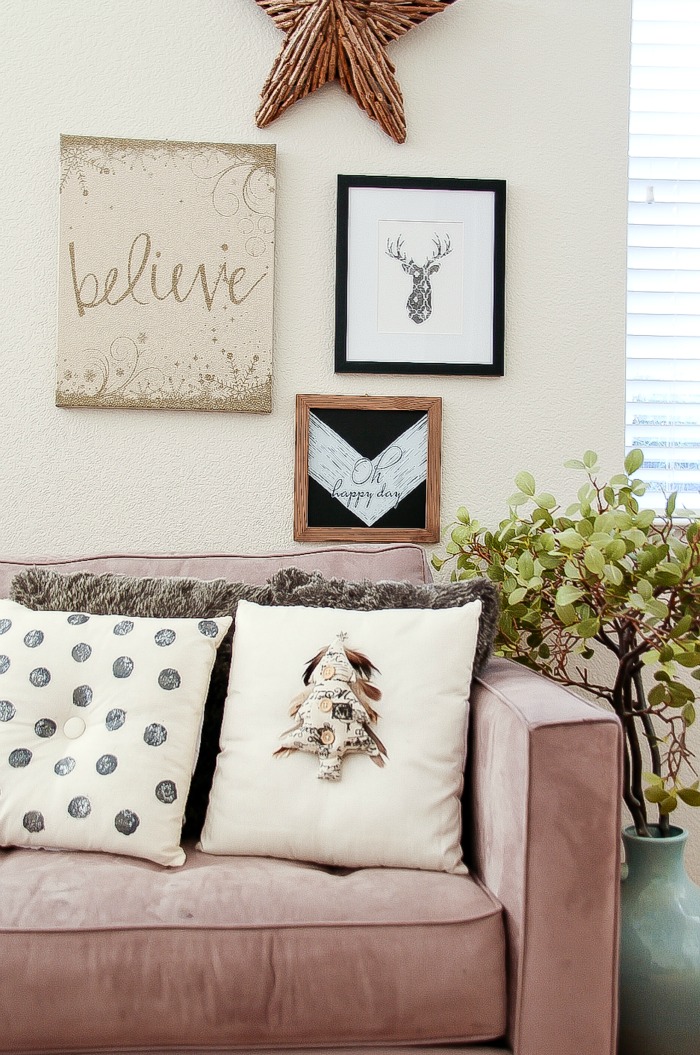
{"label": "wood-framed Oh happy day sign with white chevron on black", "polygon": [[442,400],[296,397],[294,538],[438,542]]}

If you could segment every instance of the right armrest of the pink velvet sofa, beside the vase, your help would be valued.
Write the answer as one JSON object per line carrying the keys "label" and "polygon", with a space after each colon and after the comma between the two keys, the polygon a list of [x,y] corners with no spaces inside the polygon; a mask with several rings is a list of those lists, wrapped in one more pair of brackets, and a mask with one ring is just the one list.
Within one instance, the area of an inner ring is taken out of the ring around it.
{"label": "right armrest of the pink velvet sofa, beside the vase", "polygon": [[477,679],[470,721],[466,842],[505,912],[513,1055],[610,1055],[622,728],[506,659]]}

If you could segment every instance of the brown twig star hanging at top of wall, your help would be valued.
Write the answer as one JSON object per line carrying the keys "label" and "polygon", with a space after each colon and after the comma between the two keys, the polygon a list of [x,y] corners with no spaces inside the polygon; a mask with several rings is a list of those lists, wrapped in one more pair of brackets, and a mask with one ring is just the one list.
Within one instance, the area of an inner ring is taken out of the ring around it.
{"label": "brown twig star hanging at top of wall", "polygon": [[396,142],[404,99],[385,47],[454,0],[255,0],[286,34],[255,115],[265,128],[331,80]]}

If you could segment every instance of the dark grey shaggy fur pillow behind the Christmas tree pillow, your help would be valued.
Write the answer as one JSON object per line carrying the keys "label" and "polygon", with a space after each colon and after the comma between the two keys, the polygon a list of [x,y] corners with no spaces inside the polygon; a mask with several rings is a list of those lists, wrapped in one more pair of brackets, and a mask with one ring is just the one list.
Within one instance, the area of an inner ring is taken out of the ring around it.
{"label": "dark grey shaggy fur pillow behind the Christmas tree pillow", "polygon": [[[459,608],[471,600],[482,602],[473,673],[483,670],[493,648],[499,625],[499,593],[488,579],[463,582],[371,582],[363,579],[327,579],[319,572],[284,568],[268,583],[270,605],[304,605],[308,608],[343,608],[373,612],[392,608]],[[449,642],[446,642],[449,644]]]}

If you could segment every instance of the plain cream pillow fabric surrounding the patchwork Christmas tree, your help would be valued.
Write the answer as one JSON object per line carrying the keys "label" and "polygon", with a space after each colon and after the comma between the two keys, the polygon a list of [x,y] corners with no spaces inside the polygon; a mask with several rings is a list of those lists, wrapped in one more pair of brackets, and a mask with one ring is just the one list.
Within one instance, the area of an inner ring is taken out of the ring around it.
{"label": "plain cream pillow fabric surrounding the patchwork Christmas tree", "polygon": [[[240,601],[201,849],[466,871],[460,795],[480,612],[480,601],[380,612]],[[274,752],[307,664],[342,632],[378,669],[371,729],[388,757],[349,753],[339,780],[319,780],[315,754]]]}

